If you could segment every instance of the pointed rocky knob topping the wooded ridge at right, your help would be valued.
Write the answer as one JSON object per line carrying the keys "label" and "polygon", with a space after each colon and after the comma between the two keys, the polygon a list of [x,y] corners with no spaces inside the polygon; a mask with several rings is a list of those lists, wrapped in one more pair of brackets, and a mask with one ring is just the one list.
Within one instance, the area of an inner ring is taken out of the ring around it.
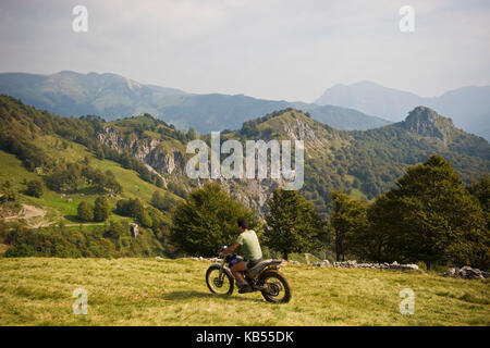
{"label": "pointed rocky knob topping the wooded ridge at right", "polygon": [[455,128],[451,119],[443,117],[426,107],[415,108],[401,124],[411,133],[424,137],[439,138],[443,141]]}

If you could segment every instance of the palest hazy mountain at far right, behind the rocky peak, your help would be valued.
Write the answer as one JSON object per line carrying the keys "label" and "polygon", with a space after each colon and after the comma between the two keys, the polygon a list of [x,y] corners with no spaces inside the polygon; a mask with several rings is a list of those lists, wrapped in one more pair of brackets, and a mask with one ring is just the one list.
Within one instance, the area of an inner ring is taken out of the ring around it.
{"label": "palest hazy mountain at far right, behind the rocky peak", "polygon": [[352,108],[396,122],[407,110],[426,105],[454,121],[467,132],[490,139],[490,86],[463,87],[436,98],[387,88],[371,82],[336,85],[327,89],[315,103]]}

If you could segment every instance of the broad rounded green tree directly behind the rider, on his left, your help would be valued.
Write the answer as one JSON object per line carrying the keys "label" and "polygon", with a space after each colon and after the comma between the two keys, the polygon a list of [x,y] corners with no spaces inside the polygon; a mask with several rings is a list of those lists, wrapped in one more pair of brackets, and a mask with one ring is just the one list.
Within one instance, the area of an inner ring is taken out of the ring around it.
{"label": "broad rounded green tree directly behind the rider, on his left", "polygon": [[194,256],[216,256],[222,245],[231,245],[238,235],[236,220],[245,217],[250,228],[258,222],[254,213],[209,183],[195,189],[172,214],[170,239],[183,252]]}

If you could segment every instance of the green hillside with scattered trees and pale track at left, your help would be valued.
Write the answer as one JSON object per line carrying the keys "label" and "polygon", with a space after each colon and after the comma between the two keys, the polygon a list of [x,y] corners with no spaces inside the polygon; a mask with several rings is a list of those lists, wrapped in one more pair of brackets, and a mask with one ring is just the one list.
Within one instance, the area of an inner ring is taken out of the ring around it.
{"label": "green hillside with scattered trees and pale track at left", "polygon": [[[100,120],[53,116],[7,97],[0,98],[0,217],[5,217],[0,219],[0,243],[16,231],[20,238],[45,238],[38,250],[45,254],[167,254],[168,210],[182,198],[133,156],[105,153],[96,137]],[[121,129],[127,122],[122,122]],[[163,123],[161,128],[176,132]],[[44,183],[40,197],[28,194],[32,181]],[[164,198],[166,208],[155,207],[155,195]],[[108,200],[108,219],[81,220],[79,203],[94,207],[101,197]],[[119,208],[127,201],[140,202],[139,216]],[[133,222],[139,225],[138,238],[130,236]],[[22,226],[36,228],[30,231],[36,231],[37,237]],[[125,234],[122,239],[121,233]],[[68,249],[63,238],[78,250]],[[0,247],[1,253],[5,252],[4,246]]]}

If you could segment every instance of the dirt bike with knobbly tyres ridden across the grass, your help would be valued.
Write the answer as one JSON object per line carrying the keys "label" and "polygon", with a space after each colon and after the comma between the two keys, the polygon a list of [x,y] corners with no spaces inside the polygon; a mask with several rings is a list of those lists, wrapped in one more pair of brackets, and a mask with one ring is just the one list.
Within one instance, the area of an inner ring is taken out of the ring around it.
{"label": "dirt bike with knobbly tyres ridden across the grass", "polygon": [[[224,250],[225,247],[222,248]],[[228,254],[221,264],[211,264],[206,271],[206,284],[211,293],[232,295],[235,278],[228,264],[233,256]],[[291,286],[279,272],[281,260],[265,260],[243,272],[253,291],[260,291],[264,298],[273,303],[287,303],[291,300]]]}

